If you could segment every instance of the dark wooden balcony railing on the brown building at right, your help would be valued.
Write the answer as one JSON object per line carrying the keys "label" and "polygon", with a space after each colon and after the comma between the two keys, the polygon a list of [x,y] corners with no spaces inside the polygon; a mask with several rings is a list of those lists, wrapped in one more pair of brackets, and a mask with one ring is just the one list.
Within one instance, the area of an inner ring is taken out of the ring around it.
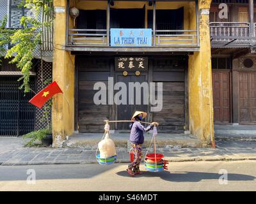
{"label": "dark wooden balcony railing on the brown building at right", "polygon": [[254,28],[248,22],[210,22],[213,48],[251,47],[255,45]]}

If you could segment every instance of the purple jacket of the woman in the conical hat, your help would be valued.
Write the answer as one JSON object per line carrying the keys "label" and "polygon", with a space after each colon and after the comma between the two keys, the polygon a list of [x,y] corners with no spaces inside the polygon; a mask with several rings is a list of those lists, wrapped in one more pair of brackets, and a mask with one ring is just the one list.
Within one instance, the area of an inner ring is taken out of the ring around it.
{"label": "purple jacket of the woman in the conical hat", "polygon": [[145,128],[140,122],[132,122],[129,127],[131,128],[130,141],[138,145],[144,142],[143,132],[150,131],[154,126],[150,124]]}

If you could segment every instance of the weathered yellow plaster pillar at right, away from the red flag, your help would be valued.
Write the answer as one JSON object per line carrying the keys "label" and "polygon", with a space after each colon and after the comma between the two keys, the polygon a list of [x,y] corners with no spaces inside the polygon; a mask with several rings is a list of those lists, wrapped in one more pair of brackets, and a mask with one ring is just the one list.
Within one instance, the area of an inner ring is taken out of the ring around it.
{"label": "weathered yellow plaster pillar at right, away from the red flag", "polygon": [[[211,0],[199,1],[200,13],[210,5]],[[189,55],[189,129],[205,144],[214,145],[209,14],[200,14],[199,20],[200,52]]]}

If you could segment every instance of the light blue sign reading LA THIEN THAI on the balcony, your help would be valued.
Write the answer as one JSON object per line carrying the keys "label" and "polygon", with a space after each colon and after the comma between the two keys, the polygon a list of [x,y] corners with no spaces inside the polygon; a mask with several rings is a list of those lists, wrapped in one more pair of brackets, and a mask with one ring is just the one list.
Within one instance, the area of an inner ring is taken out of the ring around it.
{"label": "light blue sign reading LA THIEN THAI on the balcony", "polygon": [[110,29],[110,44],[113,47],[150,47],[152,29]]}

